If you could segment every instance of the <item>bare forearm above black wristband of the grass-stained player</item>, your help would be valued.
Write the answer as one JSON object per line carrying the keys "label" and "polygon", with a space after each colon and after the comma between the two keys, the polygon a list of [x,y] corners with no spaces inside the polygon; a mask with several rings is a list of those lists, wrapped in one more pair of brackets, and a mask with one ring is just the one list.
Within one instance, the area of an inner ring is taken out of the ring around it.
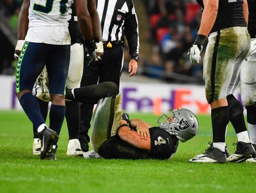
{"label": "bare forearm above black wristband of the grass-stained player", "polygon": [[218,0],[204,1],[204,11],[198,34],[209,36],[218,14]]}

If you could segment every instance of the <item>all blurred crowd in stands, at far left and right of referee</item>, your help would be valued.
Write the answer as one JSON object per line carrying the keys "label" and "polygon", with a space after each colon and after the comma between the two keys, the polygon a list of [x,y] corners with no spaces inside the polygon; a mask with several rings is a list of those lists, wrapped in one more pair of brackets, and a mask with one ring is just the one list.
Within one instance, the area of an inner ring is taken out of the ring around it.
{"label": "all blurred crowd in stands, at far left and right of referee", "polygon": [[[140,1],[144,2],[147,12],[150,26],[147,40],[152,52],[147,57],[143,53],[140,55],[138,72],[166,82],[175,82],[175,74],[182,74],[193,76],[201,83],[203,64],[191,64],[187,55],[200,25],[200,6],[195,0]],[[9,24],[15,33],[21,2],[22,0],[0,2],[0,15],[4,16],[4,22]],[[0,61],[0,74],[14,74],[14,71],[13,58]]]}

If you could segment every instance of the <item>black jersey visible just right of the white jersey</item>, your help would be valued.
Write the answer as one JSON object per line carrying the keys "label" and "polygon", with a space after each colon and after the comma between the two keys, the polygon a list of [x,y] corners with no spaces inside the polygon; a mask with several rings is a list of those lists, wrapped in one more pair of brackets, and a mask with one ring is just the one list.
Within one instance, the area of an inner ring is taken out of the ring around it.
{"label": "black jersey visible just right of the white jersey", "polygon": [[68,21],[68,31],[71,37],[71,45],[84,42],[84,37],[82,36],[79,26],[77,24],[76,8],[74,3],[71,5],[72,14],[71,19]]}

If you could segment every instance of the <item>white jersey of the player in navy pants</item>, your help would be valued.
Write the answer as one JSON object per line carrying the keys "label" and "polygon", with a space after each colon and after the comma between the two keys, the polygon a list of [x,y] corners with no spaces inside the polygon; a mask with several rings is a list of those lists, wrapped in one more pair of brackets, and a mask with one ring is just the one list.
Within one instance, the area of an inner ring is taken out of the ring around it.
{"label": "white jersey of the player in navy pants", "polygon": [[68,20],[73,0],[30,0],[26,41],[69,45]]}

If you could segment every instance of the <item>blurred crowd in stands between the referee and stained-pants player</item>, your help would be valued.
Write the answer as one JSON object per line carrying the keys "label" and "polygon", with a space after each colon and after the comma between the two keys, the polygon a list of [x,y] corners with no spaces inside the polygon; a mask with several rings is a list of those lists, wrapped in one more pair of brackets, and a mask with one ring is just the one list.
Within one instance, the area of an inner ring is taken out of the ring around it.
{"label": "blurred crowd in stands between the referee and stained-pants player", "polygon": [[[203,64],[191,64],[187,52],[200,26],[201,8],[196,1],[143,0],[147,8],[152,45],[151,58],[144,59],[147,71],[154,78],[174,82],[172,74],[182,74],[203,81]],[[152,72],[159,72],[159,75]],[[170,76],[161,76],[170,74]]]}

